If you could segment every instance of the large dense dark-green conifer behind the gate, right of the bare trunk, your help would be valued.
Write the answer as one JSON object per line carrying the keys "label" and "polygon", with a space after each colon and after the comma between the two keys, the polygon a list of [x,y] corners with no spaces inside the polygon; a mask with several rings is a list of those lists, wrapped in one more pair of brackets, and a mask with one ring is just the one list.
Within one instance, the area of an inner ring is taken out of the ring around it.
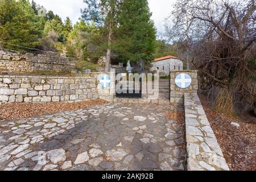
{"label": "large dense dark-green conifer behind the gate, right of the bare trunk", "polygon": [[154,59],[155,27],[150,18],[147,0],[122,1],[118,13],[118,36],[114,51],[127,55],[120,56],[120,60],[149,62]]}

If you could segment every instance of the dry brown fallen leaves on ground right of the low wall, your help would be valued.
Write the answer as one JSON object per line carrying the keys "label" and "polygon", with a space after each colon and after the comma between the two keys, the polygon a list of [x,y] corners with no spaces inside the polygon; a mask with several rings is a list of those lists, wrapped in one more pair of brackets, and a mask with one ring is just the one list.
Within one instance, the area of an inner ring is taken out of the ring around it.
{"label": "dry brown fallen leaves on ground right of the low wall", "polygon": [[[210,109],[205,98],[201,101],[230,169],[255,171],[256,118],[250,115],[232,118]],[[230,125],[232,122],[237,122],[240,127]]]}

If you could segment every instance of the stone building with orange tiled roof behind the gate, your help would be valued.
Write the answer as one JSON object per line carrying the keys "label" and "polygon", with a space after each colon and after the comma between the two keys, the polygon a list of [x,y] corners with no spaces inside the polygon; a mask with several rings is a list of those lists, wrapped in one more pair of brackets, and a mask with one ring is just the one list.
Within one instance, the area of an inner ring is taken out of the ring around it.
{"label": "stone building with orange tiled roof behind the gate", "polygon": [[169,75],[171,71],[182,71],[183,62],[174,56],[165,56],[152,62],[152,72],[158,72],[160,76]]}

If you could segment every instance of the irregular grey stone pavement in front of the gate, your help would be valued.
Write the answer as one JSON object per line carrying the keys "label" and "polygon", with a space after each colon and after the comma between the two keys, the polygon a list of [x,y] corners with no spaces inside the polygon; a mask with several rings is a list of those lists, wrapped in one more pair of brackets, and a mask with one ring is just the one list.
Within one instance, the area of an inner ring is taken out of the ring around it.
{"label": "irregular grey stone pavement in front of the gate", "polygon": [[0,170],[184,170],[171,106],[108,104],[2,122]]}

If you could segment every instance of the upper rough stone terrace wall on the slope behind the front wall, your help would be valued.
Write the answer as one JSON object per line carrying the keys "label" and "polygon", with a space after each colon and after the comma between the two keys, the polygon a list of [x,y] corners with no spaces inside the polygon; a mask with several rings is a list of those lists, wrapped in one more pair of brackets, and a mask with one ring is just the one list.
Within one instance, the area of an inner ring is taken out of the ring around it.
{"label": "upper rough stone terrace wall on the slope behind the front wall", "polygon": [[75,60],[56,53],[20,54],[16,52],[0,51],[0,71],[6,72],[34,72],[34,71],[75,71]]}

